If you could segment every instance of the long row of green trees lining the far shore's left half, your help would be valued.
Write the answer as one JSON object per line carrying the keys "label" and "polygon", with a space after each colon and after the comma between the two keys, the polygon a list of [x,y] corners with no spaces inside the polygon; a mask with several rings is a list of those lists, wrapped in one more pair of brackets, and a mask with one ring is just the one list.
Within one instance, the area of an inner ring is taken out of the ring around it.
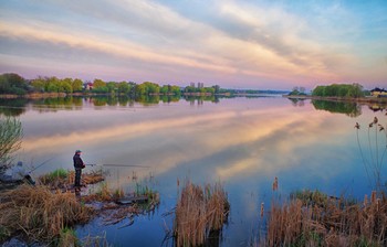
{"label": "long row of green trees lining the far shore's left half", "polygon": [[180,88],[176,85],[158,85],[151,82],[136,84],[133,82],[104,82],[95,78],[93,83],[84,83],[80,78],[42,77],[28,80],[14,73],[0,75],[0,94],[24,95],[28,93],[85,93],[96,94],[124,94],[124,95],[180,95],[181,93],[209,93],[219,92],[219,86]]}

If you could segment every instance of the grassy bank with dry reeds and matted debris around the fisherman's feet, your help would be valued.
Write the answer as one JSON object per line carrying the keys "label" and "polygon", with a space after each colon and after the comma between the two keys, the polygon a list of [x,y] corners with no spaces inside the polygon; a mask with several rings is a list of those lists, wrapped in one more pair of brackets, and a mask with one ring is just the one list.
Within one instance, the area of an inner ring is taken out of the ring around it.
{"label": "grassy bank with dry reeds and matted debris around the fisherman's feet", "polygon": [[101,236],[77,239],[73,227],[95,217],[102,217],[104,225],[126,221],[129,226],[136,216],[153,212],[159,204],[158,193],[145,185],[137,184],[135,192],[125,194],[103,181],[102,171],[85,173],[82,183],[100,189],[77,192],[72,186],[74,172],[59,169],[38,178],[35,186],[0,187],[0,244],[109,246]]}

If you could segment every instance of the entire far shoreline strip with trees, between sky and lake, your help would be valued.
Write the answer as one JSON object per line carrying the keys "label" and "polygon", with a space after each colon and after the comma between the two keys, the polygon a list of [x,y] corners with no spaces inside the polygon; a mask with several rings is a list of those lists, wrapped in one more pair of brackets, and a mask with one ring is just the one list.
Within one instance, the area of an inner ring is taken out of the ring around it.
{"label": "entire far shoreline strip with trees, between sky and lake", "polygon": [[253,97],[262,95],[282,95],[291,100],[327,100],[352,101],[359,104],[387,105],[387,97],[370,96],[360,84],[331,84],[316,86],[311,94],[304,87],[294,87],[286,90],[257,90],[257,89],[228,89],[219,85],[205,87],[203,83],[190,83],[189,86],[158,85],[151,82],[136,84],[134,82],[104,82],[95,78],[93,82],[83,82],[79,78],[57,78],[55,76],[34,79],[24,79],[18,74],[6,73],[0,75],[0,98],[3,99],[42,99],[63,98],[69,96],[125,96],[142,98],[151,96],[168,97]]}

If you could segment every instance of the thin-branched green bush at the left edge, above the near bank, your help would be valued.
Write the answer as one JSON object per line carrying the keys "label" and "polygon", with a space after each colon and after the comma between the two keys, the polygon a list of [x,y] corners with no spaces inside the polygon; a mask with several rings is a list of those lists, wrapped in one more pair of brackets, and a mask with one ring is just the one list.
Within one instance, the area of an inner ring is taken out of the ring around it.
{"label": "thin-branched green bush at the left edge, above the near bank", "polygon": [[11,167],[14,152],[21,148],[23,136],[19,119],[0,116],[0,173]]}

